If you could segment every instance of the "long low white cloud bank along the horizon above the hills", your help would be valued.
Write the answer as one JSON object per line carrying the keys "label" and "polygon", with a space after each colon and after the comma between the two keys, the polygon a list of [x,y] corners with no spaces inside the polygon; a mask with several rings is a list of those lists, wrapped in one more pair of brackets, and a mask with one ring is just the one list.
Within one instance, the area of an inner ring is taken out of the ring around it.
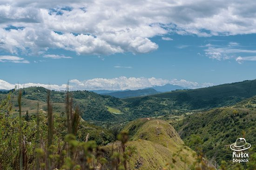
{"label": "long low white cloud bank along the horizon above the hills", "polygon": [[[105,78],[94,78],[89,80],[80,81],[77,79],[73,79],[69,81],[69,88],[71,90],[125,90],[125,89],[141,89],[141,88],[148,88],[152,86],[163,86],[167,83],[179,85],[186,88],[202,88],[213,86],[212,83],[197,83],[197,82],[190,82],[187,80],[167,80],[161,78],[145,78],[145,77],[117,77],[111,79]],[[41,86],[44,88],[54,89],[54,90],[65,90],[67,89],[66,84],[62,85],[55,85],[55,84],[40,84],[40,83],[23,83],[23,84],[11,84],[4,80],[0,80],[0,89],[11,89],[16,86],[20,88],[23,87],[30,87],[30,86]]]}

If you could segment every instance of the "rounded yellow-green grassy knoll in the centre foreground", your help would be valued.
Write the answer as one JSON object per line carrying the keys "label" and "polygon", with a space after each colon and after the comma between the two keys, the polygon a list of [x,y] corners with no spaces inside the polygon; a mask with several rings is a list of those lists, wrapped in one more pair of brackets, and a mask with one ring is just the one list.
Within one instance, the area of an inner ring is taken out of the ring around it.
{"label": "rounded yellow-green grassy knoll in the centre foreground", "polygon": [[[173,153],[182,146],[175,129],[164,120],[142,118],[128,123],[124,130],[129,131],[130,140],[128,145],[136,147],[137,154],[134,154],[128,161],[131,170],[162,170],[166,164],[171,163]],[[107,146],[110,150],[112,145]],[[181,152],[182,156],[187,155],[189,164],[194,161],[194,151],[188,148]],[[183,170],[184,163],[175,158],[175,170]],[[187,165],[185,165],[187,166]]]}

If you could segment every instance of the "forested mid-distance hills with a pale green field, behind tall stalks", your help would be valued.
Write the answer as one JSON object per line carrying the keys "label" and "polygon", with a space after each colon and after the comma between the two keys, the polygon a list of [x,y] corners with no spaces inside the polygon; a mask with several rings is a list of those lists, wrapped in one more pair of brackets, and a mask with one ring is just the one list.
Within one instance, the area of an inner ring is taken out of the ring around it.
{"label": "forested mid-distance hills with a pale green field, behind tall stalks", "polygon": [[[47,111],[47,93],[48,90],[42,87],[22,88],[22,113],[36,113],[37,102],[40,109]],[[18,91],[13,93],[13,113],[18,114]],[[153,117],[160,115],[172,114],[172,101],[158,100],[153,98],[140,103],[130,103],[122,101],[109,95],[100,95],[89,91],[72,91],[71,92],[74,106],[78,106],[81,111],[81,117],[84,120],[101,124],[104,122],[125,122],[142,117]],[[0,98],[4,98],[6,94],[0,94]],[[65,113],[65,91],[51,91],[51,102],[53,103],[53,111],[55,114],[61,115]]]}

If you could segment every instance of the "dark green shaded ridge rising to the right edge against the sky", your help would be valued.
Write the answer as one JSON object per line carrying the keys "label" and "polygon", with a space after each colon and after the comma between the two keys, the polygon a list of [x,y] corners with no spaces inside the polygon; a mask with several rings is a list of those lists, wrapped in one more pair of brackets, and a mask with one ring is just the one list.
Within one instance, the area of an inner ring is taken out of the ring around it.
{"label": "dark green shaded ridge rising to the right edge against the sky", "polygon": [[[213,107],[232,106],[245,98],[256,95],[256,80],[247,80],[222,84],[208,88],[178,90],[153,94],[149,97],[174,101],[174,107],[187,109],[209,109]],[[143,97],[123,99],[126,102],[139,102]]]}

